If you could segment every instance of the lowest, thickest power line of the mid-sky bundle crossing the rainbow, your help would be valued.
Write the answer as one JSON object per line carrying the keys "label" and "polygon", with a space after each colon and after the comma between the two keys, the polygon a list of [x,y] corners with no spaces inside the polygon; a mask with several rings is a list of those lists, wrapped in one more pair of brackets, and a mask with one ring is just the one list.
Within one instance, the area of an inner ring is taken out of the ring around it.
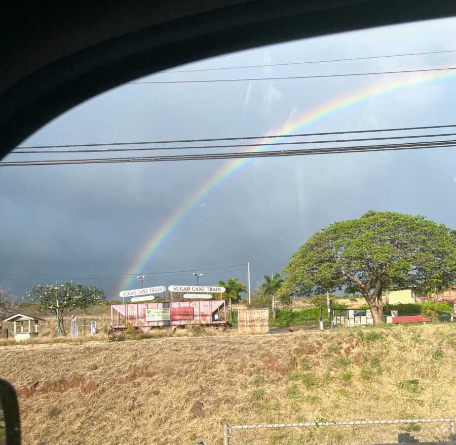
{"label": "lowest, thickest power line of the mid-sky bundle crossing the rainbow", "polygon": [[254,157],[278,157],[278,156],[300,156],[311,154],[336,154],[354,153],[367,151],[390,151],[390,150],[410,150],[418,148],[432,147],[454,147],[456,140],[450,141],[430,141],[409,144],[383,144],[383,145],[354,145],[345,147],[325,147],[307,148],[295,150],[277,151],[256,151],[256,152],[231,152],[231,153],[209,153],[209,154],[184,154],[167,156],[142,156],[142,157],[107,157],[93,159],[60,159],[60,160],[32,160],[32,161],[13,161],[2,162],[0,167],[23,167],[23,166],[45,166],[45,165],[72,165],[72,164],[111,164],[111,163],[133,163],[133,162],[160,162],[176,160],[213,160],[213,159],[238,159]]}

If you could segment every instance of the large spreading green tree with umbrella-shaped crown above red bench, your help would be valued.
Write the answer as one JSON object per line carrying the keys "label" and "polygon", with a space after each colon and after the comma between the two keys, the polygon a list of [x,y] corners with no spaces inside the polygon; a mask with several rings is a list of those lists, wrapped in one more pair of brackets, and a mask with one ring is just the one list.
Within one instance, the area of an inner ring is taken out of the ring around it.
{"label": "large spreading green tree with umbrella-shaped crown above red bench", "polygon": [[443,290],[456,281],[456,231],[423,216],[369,211],[315,233],[291,257],[279,296],[361,293],[375,324],[386,289]]}

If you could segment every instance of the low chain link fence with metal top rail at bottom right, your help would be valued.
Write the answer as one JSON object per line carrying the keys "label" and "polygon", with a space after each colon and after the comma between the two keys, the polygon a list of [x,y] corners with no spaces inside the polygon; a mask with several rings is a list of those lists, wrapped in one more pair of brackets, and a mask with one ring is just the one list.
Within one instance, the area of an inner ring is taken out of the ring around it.
{"label": "low chain link fence with metal top rail at bottom right", "polygon": [[[350,434],[350,439],[348,440],[347,436],[343,434],[334,434],[333,431],[327,433],[325,430],[327,427],[332,429],[343,428],[343,427],[352,427],[356,429],[357,427],[363,426],[376,426],[377,428],[371,429],[368,431],[368,434],[364,434],[361,431],[352,431]],[[398,428],[398,425],[403,425]],[[437,427],[438,425],[438,427]],[[387,427],[384,431],[377,431],[381,427]],[[395,426],[391,428],[391,426]],[[432,426],[432,428],[430,428]],[[250,439],[247,438],[247,441],[244,438],[240,440],[235,440],[234,433],[238,430],[259,430],[259,429],[283,429],[283,428],[307,428],[312,431],[316,431],[316,428],[319,428],[320,431],[323,431],[323,434],[320,434],[321,437],[317,438],[316,434],[308,434],[307,437],[301,437],[300,439],[296,437],[292,439],[293,443],[296,440],[296,443],[379,443],[389,441],[390,443],[397,443],[398,432],[407,431],[413,433],[417,439],[420,441],[439,441],[439,440],[456,440],[455,433],[455,419],[398,419],[398,420],[355,420],[355,421],[343,421],[343,422],[305,422],[305,423],[272,423],[272,424],[257,424],[257,425],[223,425],[223,445],[244,445],[251,443]],[[323,430],[321,429],[323,428]],[[257,434],[256,437],[252,437],[251,440],[254,443],[263,443],[258,442]],[[307,439],[307,440],[306,440]],[[312,440],[311,440],[312,439]],[[290,440],[287,442],[280,442],[280,438],[277,443],[292,443],[289,438],[285,440]]]}

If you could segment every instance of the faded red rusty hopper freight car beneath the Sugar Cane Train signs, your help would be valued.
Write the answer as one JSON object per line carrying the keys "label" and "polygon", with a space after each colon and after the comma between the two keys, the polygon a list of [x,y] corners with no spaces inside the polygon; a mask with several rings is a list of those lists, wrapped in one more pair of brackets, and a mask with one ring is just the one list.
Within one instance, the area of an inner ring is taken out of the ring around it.
{"label": "faded red rusty hopper freight car beneath the Sugar Cane Train signs", "polygon": [[111,331],[126,329],[131,323],[141,331],[155,327],[227,325],[225,300],[126,303],[111,305]]}

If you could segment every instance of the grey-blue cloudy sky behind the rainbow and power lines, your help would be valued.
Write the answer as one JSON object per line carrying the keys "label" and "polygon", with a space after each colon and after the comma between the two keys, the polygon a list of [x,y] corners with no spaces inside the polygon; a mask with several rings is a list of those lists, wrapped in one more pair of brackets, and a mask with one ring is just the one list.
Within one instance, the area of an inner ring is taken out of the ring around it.
{"label": "grey-blue cloudy sky behind the rainbow and power lines", "polygon": [[[456,20],[445,19],[336,34],[210,59],[187,65],[186,69],[455,50],[455,25]],[[426,69],[456,66],[455,58],[456,52],[161,73],[148,79]],[[270,134],[290,119],[334,103],[337,98],[415,77],[417,74],[412,73],[130,84],[61,115],[24,145]],[[455,87],[456,80],[450,77],[398,89],[362,100],[296,131],[454,124]],[[179,151],[182,154],[183,150]],[[148,154],[139,153],[129,154]],[[100,156],[89,153],[83,157],[89,155]],[[32,156],[10,155],[7,159]],[[20,297],[36,284],[73,279],[95,284],[109,298],[116,298],[125,281],[114,275],[155,273],[158,276],[147,275],[145,285],[169,286],[195,282],[192,272],[176,271],[219,267],[202,271],[200,283],[212,285],[232,276],[245,282],[244,264],[250,261],[254,288],[265,273],[281,271],[289,256],[313,232],[334,221],[356,218],[369,209],[421,214],[456,227],[455,161],[452,148],[254,159],[198,199],[154,254],[134,270],[131,265],[135,258],[164,221],[229,161],[2,168],[0,286]],[[243,265],[225,267],[237,264]],[[161,272],[170,272],[170,276]],[[129,282],[128,286],[136,287],[136,283]]]}

